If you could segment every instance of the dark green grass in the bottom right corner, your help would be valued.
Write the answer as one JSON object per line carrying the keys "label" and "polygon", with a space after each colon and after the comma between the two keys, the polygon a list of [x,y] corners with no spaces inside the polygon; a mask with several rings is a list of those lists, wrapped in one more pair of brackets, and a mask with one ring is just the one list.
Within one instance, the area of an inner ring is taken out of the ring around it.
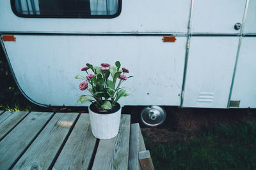
{"label": "dark green grass in the bottom right corner", "polygon": [[145,143],[156,169],[256,169],[256,124],[216,123],[199,138],[169,144]]}

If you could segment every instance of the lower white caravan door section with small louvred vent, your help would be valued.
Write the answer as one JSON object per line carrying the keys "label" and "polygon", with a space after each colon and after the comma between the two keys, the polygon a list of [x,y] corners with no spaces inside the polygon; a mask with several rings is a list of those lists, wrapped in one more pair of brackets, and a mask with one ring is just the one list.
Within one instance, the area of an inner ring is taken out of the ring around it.
{"label": "lower white caravan door section with small louvred vent", "polygon": [[227,108],[239,37],[192,37],[184,107]]}

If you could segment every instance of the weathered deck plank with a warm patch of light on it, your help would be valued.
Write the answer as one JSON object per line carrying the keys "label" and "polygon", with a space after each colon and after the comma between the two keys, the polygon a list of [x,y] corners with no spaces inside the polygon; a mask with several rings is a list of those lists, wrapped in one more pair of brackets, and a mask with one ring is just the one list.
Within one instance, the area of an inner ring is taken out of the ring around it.
{"label": "weathered deck plank with a warm patch of light on it", "polygon": [[48,169],[78,113],[56,113],[13,169]]}

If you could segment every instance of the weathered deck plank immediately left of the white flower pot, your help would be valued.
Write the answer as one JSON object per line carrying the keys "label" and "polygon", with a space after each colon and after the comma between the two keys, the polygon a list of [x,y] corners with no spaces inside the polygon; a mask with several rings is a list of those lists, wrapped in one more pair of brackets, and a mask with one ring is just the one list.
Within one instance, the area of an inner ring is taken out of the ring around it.
{"label": "weathered deck plank immediately left of the white flower pot", "polygon": [[81,114],[53,169],[88,169],[96,138],[88,114]]}

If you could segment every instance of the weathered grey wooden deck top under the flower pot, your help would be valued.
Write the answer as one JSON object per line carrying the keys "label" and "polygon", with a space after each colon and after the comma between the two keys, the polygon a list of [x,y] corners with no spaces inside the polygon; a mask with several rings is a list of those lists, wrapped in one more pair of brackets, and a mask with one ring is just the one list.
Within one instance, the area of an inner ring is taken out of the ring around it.
{"label": "weathered grey wooden deck top under the flower pot", "polygon": [[128,169],[130,119],[100,140],[88,113],[0,111],[0,169]]}

